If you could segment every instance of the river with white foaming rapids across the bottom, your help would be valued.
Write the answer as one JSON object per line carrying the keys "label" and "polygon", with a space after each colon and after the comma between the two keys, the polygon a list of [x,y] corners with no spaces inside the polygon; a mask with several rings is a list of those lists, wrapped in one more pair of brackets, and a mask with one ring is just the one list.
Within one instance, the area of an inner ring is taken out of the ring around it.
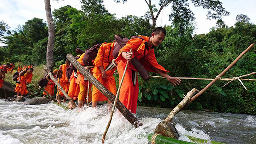
{"label": "river with white foaming rapids across the bottom", "polygon": [[[0,100],[0,144],[101,144],[109,119],[107,106],[64,110],[56,104],[24,105]],[[134,128],[115,112],[105,144],[148,144],[146,135],[170,109],[138,107],[142,127]],[[256,116],[231,113],[181,111],[173,123],[185,135],[229,144],[256,144]]]}

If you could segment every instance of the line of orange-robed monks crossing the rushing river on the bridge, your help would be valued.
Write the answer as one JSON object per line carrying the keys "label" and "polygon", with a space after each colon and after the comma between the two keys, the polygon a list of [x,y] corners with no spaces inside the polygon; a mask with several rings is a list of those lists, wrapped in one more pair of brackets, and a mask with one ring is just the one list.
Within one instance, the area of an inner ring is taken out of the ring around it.
{"label": "line of orange-robed monks crossing the rushing river on the bridge", "polygon": [[[163,42],[166,36],[166,31],[162,27],[157,27],[153,30],[151,37],[139,35],[142,38],[130,39],[122,49],[119,51],[119,55],[116,59],[113,58],[113,49],[115,48],[116,41],[113,40],[111,43],[102,43],[99,48],[98,54],[93,60],[94,67],[85,66],[83,63],[84,54],[78,55],[76,58],[78,62],[85,67],[101,84],[103,84],[110,92],[116,95],[116,83],[113,77],[114,71],[117,69],[119,74],[119,83],[121,81],[122,75],[124,74],[125,65],[131,58],[137,58],[141,64],[145,67],[147,71],[159,73],[163,75],[168,81],[172,82],[174,85],[180,84],[180,79],[171,77],[167,73],[166,69],[157,63],[154,47],[158,46]],[[147,49],[146,49],[147,47]],[[132,49],[132,52],[130,52]],[[108,69],[111,65],[112,60],[117,64],[116,67]],[[72,64],[71,64],[72,66]],[[73,100],[78,100],[79,107],[83,107],[84,103],[87,101],[92,101],[92,107],[96,107],[98,101],[111,101],[105,97],[96,86],[92,86],[86,78],[76,69],[73,70],[70,78],[67,78],[66,71],[70,67],[70,62],[66,60],[65,64],[59,67],[62,70],[61,77],[58,78],[58,83],[61,84],[65,92],[73,98]],[[137,109],[137,99],[139,94],[138,78],[137,75],[134,77],[133,71],[137,72],[137,69],[128,63],[128,69],[125,73],[125,78],[123,80],[122,88],[120,90],[119,101],[125,105],[125,107],[132,113],[136,113]],[[54,75],[57,75],[58,70],[53,71]],[[45,90],[49,94],[53,95],[54,83],[49,79],[47,75],[48,84]],[[134,82],[135,81],[135,82]],[[91,92],[92,87],[92,92]],[[87,92],[88,95],[87,95]],[[47,95],[45,92],[44,95]],[[58,102],[60,103],[60,98],[63,97],[63,93],[60,89],[57,90]],[[65,99],[64,99],[65,101]]]}

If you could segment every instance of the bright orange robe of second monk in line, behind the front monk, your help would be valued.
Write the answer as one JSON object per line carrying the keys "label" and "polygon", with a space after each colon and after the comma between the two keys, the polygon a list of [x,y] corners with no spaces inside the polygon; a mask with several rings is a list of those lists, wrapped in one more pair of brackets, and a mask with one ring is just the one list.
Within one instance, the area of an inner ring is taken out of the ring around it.
{"label": "bright orange robe of second monk in line, behind the front monk", "polygon": [[[113,58],[113,43],[102,43],[102,45],[99,47],[99,51],[97,54],[97,57],[94,60],[93,65],[93,76],[101,83],[103,86],[105,86],[110,92],[112,92],[114,95],[116,95],[116,81],[113,77],[113,73],[116,70],[116,67],[106,71],[106,74],[108,75],[107,78],[102,78],[102,72],[99,69],[99,66],[103,66],[104,69],[108,67],[109,64],[112,63]],[[111,50],[111,52],[110,52]],[[97,89],[95,86],[93,86],[93,102],[97,101],[107,101],[108,98],[103,95],[99,89]]]}

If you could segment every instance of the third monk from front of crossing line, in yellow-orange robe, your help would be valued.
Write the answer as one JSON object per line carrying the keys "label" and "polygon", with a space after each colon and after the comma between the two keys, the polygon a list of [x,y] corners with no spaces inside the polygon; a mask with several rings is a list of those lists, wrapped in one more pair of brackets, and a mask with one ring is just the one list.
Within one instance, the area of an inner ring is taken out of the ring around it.
{"label": "third monk from front of crossing line, in yellow-orange robe", "polygon": [[[84,66],[83,58],[84,54],[77,60],[82,66]],[[84,66],[84,68],[92,74],[92,70],[88,66]],[[92,84],[89,84],[89,95],[87,95],[89,81],[86,80],[79,71],[77,71],[77,73],[78,77],[76,78],[76,84],[79,84],[78,107],[81,108],[84,107],[84,103],[87,101],[87,96],[88,101],[91,101],[92,91],[90,89],[92,88]]]}

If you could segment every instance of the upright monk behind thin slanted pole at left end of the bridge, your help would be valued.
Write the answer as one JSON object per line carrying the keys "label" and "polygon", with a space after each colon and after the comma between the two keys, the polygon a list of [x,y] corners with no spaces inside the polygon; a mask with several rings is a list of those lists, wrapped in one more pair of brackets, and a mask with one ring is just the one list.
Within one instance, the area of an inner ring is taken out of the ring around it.
{"label": "upright monk behind thin slanted pole at left end of the bridge", "polygon": [[[65,90],[65,92],[68,92],[68,89],[69,89],[69,80],[67,79],[67,76],[66,76],[66,70],[67,68],[70,67],[70,61],[66,59],[66,62],[65,64],[62,64],[60,67],[59,67],[59,70],[62,71],[62,77],[61,78],[58,78],[58,83],[61,85],[61,87]],[[61,103],[61,97],[63,97],[64,94],[61,92],[61,90],[58,88],[57,89],[57,97],[58,97],[58,103],[60,104]],[[66,101],[66,97],[64,97],[64,100],[63,102]]]}

